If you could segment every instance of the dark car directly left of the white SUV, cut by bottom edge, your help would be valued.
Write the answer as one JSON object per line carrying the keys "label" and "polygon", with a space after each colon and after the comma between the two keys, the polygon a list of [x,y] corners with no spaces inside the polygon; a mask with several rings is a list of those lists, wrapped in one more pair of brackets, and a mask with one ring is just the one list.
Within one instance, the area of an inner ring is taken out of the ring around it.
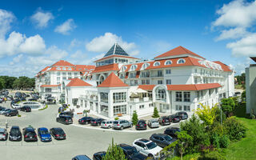
{"label": "dark car directly left of the white SUV, cut by bottom edge", "polygon": [[146,156],[139,154],[138,150],[136,150],[134,146],[126,145],[123,143],[119,144],[118,146],[122,149],[128,160],[144,160],[147,158]]}

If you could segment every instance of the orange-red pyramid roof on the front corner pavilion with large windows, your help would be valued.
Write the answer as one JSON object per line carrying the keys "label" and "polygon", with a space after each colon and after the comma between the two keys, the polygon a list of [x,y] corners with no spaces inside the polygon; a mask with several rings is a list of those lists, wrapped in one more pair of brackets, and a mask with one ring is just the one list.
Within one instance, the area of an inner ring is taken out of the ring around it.
{"label": "orange-red pyramid roof on the front corner pavilion with large windows", "polygon": [[102,84],[98,85],[97,87],[122,87],[128,86],[126,83],[122,82],[121,79],[118,78],[114,72],[112,72],[109,77],[102,82]]}

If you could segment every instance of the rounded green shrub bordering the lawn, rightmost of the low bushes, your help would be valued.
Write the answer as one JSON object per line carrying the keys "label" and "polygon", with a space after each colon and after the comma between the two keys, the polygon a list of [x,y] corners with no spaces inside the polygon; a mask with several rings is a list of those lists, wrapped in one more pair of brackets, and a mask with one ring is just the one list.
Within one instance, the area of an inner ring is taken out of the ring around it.
{"label": "rounded green shrub bordering the lawn, rightmost of the low bushes", "polygon": [[238,122],[238,119],[231,117],[227,118],[224,122],[226,135],[229,136],[230,141],[240,140],[246,136],[246,126],[241,122]]}

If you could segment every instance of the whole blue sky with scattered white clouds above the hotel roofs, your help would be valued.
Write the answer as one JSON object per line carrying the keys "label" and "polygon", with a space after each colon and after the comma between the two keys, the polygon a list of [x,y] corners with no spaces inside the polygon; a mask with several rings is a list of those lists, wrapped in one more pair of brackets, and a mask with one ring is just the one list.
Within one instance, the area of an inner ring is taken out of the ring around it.
{"label": "whole blue sky with scattered white clouds above the hotel roofs", "polygon": [[236,74],[256,57],[255,1],[0,2],[0,75],[34,77],[60,59],[94,65],[114,42],[143,59],[184,46]]}

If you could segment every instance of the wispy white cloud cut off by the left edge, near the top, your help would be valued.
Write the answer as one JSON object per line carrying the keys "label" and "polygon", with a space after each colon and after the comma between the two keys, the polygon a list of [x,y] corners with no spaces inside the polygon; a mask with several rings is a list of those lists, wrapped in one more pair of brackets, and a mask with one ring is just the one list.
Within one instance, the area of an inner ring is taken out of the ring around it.
{"label": "wispy white cloud cut off by the left edge, near the top", "polygon": [[4,38],[6,32],[10,30],[10,23],[15,19],[14,14],[0,9],[0,38]]}

